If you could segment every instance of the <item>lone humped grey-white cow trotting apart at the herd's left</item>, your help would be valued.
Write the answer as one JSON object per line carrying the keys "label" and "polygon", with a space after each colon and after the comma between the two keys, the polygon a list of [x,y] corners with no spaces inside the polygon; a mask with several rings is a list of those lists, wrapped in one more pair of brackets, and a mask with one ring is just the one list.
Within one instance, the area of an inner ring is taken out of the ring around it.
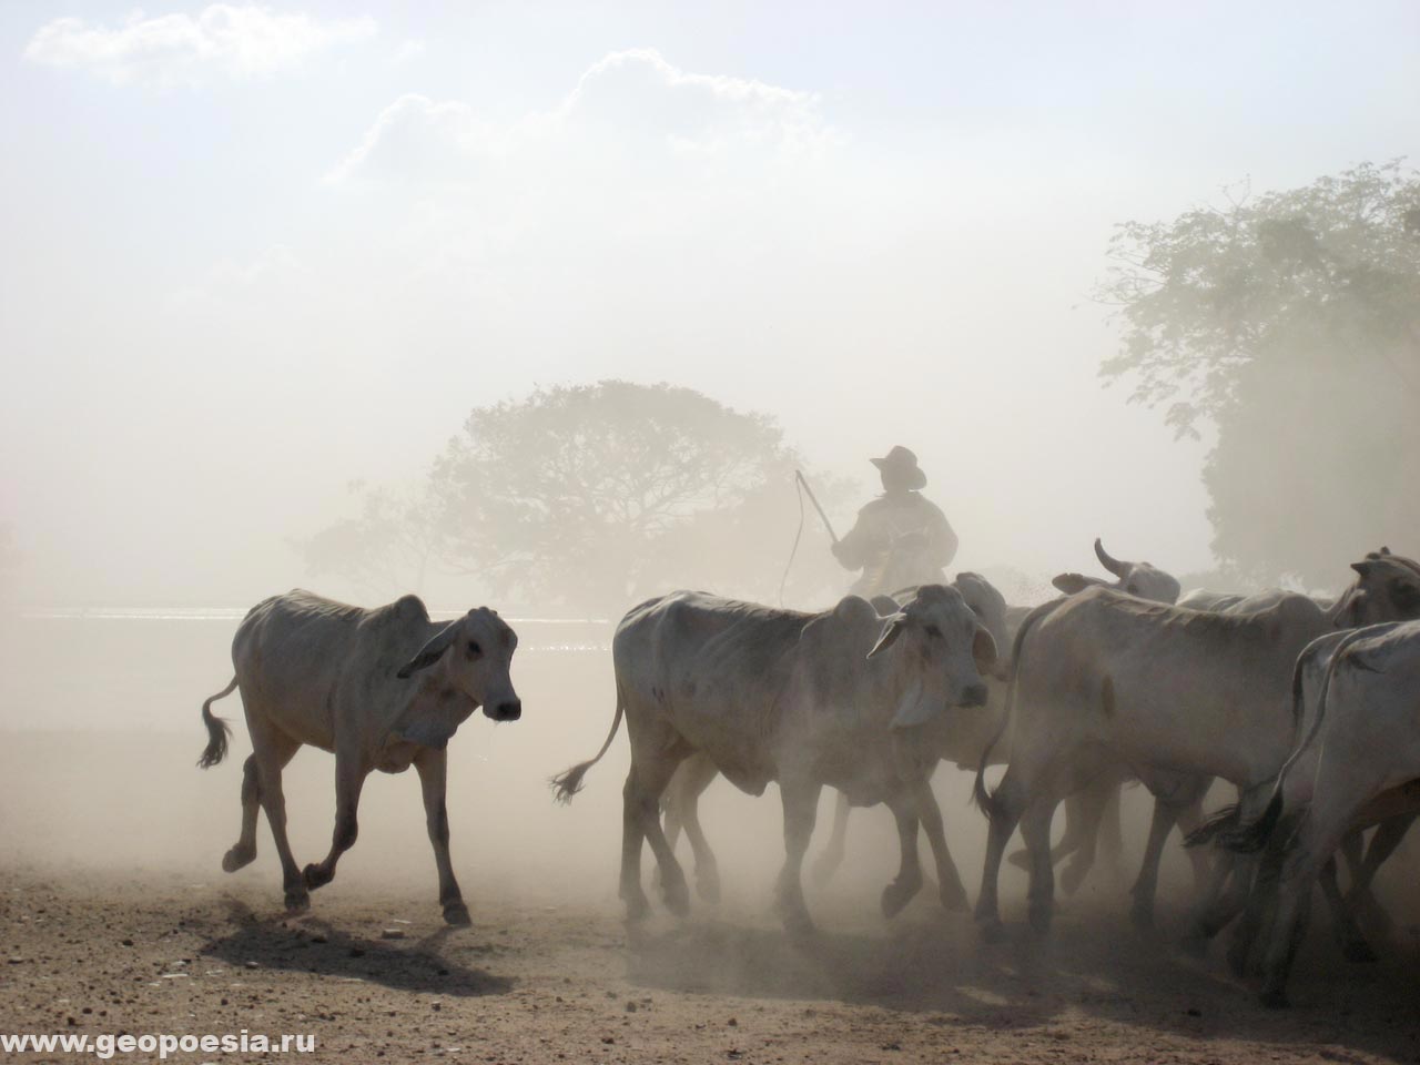
{"label": "lone humped grey-white cow trotting apart at the herd's left", "polygon": [[[285,905],[304,910],[310,892],[329,883],[356,835],[361,787],[372,770],[413,765],[423,788],[429,839],[439,865],[444,920],[467,924],[469,909],[449,862],[444,747],[483,707],[494,721],[515,721],[523,704],[508,666],[517,635],[486,606],[446,625],[429,621],[413,595],[378,609],[332,602],[304,591],[257,604],[231,642],[236,676],[202,704],[207,748],[199,765],[216,765],[231,733],[212,703],[241,689],[253,753],[241,780],[241,835],[222,859],[229,873],[257,855],[257,805],[266,809],[281,858]],[[335,753],[335,834],[320,865],[302,869],[285,836],[281,768],[310,744]]]}

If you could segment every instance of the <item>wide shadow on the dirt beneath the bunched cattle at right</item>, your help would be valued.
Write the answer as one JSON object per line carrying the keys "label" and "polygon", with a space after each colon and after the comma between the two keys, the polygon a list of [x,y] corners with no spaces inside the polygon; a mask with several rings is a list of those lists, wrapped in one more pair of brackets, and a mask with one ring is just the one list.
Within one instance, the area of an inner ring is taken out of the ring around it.
{"label": "wide shadow on the dirt beneath the bunched cattle at right", "polygon": [[834,932],[826,920],[822,929],[797,939],[767,922],[629,926],[628,978],[673,993],[873,1005],[1052,1038],[1071,1024],[1100,1022],[1135,1031],[1126,1038],[1136,1047],[1235,1039],[1342,1062],[1420,1061],[1413,944],[1352,966],[1329,930],[1315,929],[1292,983],[1294,1007],[1277,1011],[1231,976],[1224,941],[1197,960],[1177,950],[1173,924],[1146,939],[1119,912],[1056,920],[1044,940],[1008,924],[994,944],[967,917],[922,910],[876,930]]}

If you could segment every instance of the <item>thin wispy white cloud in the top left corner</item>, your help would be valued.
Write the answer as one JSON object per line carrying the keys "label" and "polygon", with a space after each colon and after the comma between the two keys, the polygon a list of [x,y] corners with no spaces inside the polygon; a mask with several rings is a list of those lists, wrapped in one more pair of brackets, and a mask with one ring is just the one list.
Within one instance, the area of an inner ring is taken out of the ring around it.
{"label": "thin wispy white cloud in the top left corner", "polygon": [[212,4],[146,18],[133,13],[121,26],[55,18],[40,27],[24,58],[47,67],[87,70],[115,85],[196,84],[209,74],[260,78],[293,70],[342,40],[371,37],[368,17],[322,21],[254,4]]}

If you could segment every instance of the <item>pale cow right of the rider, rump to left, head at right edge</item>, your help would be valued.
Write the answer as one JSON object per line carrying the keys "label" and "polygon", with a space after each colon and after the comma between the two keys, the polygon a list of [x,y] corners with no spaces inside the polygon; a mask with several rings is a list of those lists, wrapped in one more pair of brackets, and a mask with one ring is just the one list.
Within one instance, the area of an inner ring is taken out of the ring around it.
{"label": "pale cow right of the rider, rump to left, head at right edge", "polygon": [[[1123,763],[1164,807],[1180,792],[1193,801],[1189,785],[1201,777],[1247,792],[1277,772],[1292,746],[1291,676],[1301,649],[1335,628],[1420,615],[1413,564],[1373,555],[1352,568],[1358,578],[1331,612],[1305,596],[1282,596],[1258,613],[1220,615],[1093,589],[1022,623],[1007,707],[1011,761],[995,795],[977,775],[991,821],[977,902],[988,937],[1000,932],[997,875],[1017,824],[1031,852],[1031,923],[1048,929],[1055,805],[1100,772]],[[1211,885],[1194,919],[1194,944],[1207,943],[1240,906],[1245,879],[1233,879],[1227,896],[1221,879]]]}

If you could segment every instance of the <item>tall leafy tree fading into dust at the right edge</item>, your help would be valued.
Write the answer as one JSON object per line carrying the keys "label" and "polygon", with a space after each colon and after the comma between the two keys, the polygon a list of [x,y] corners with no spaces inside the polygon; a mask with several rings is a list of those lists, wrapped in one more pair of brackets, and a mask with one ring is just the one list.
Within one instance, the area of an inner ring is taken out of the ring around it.
{"label": "tall leafy tree fading into dust at the right edge", "polygon": [[1302,189],[1119,226],[1100,373],[1216,443],[1213,548],[1234,574],[1336,582],[1420,528],[1420,180],[1362,163]]}

